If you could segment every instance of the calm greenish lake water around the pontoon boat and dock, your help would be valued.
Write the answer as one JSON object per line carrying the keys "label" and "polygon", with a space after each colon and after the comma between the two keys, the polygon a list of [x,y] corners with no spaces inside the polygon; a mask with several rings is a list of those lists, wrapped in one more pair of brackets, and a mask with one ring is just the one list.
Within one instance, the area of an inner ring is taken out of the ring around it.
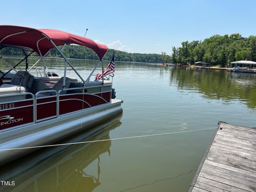
{"label": "calm greenish lake water around the pontoon boat and dock", "polygon": [[[46,60],[62,74],[60,61]],[[87,77],[96,62],[73,63]],[[113,84],[123,114],[60,143],[180,133],[44,148],[1,167],[15,186],[0,190],[187,191],[215,129],[187,131],[256,126],[256,74],[116,62]]]}

